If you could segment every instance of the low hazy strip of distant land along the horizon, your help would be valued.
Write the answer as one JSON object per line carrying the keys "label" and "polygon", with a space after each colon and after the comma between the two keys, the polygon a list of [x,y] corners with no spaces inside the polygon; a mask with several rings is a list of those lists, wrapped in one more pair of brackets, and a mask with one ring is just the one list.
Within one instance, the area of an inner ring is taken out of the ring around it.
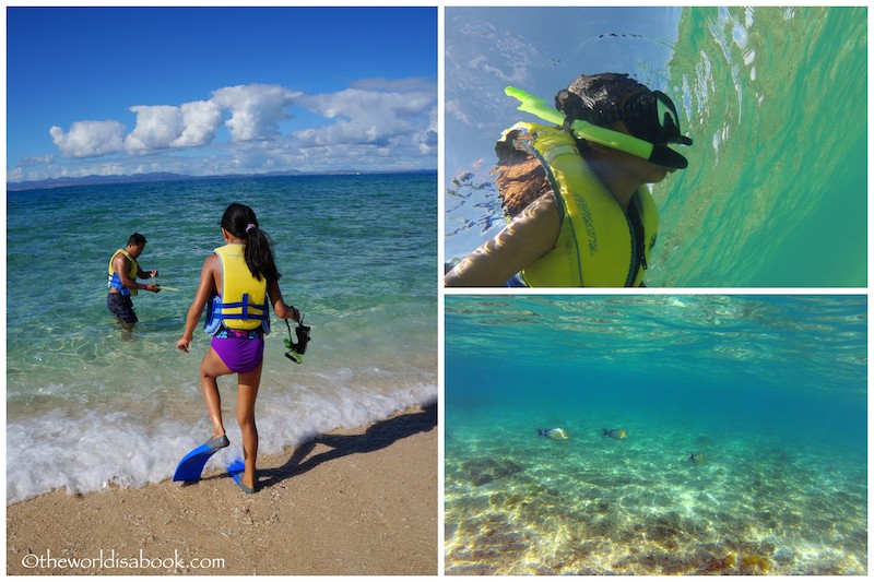
{"label": "low hazy strip of distant land along the horizon", "polygon": [[271,178],[277,176],[365,176],[380,174],[434,174],[436,169],[397,170],[397,171],[270,171],[265,174],[222,174],[215,176],[187,176],[185,174],[152,173],[130,174],[117,176],[83,176],[81,178],[51,178],[48,180],[33,180],[25,182],[7,182],[7,192],[23,190],[42,190],[47,188],[66,188],[69,186],[99,186],[106,183],[141,183],[141,182],[174,182],[184,180],[227,180],[239,178]]}

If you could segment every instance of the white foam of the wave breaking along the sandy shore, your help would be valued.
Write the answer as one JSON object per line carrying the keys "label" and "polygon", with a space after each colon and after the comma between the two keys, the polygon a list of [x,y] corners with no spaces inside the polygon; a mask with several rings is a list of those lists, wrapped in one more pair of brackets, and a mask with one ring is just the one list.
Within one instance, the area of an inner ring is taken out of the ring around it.
{"label": "white foam of the wave breaking along the sandy shore", "polygon": [[[302,389],[265,394],[258,402],[259,452],[281,453],[314,436],[354,428],[436,397],[423,383],[388,393],[333,390],[330,395]],[[221,467],[243,456],[233,404],[224,406],[232,446],[206,464]],[[140,412],[74,414],[52,409],[7,426],[7,503],[54,489],[87,492],[110,485],[142,487],[169,478],[178,461],[211,435],[203,414],[191,423],[147,419]]]}

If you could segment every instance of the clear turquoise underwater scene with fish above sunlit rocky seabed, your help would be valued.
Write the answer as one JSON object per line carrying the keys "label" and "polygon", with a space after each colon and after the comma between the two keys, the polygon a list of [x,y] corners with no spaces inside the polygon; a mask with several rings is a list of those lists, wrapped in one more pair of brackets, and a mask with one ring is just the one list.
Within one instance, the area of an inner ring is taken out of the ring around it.
{"label": "clear turquoise underwater scene with fish above sunlit rocky seabed", "polygon": [[866,574],[866,329],[855,295],[448,296],[447,573]]}

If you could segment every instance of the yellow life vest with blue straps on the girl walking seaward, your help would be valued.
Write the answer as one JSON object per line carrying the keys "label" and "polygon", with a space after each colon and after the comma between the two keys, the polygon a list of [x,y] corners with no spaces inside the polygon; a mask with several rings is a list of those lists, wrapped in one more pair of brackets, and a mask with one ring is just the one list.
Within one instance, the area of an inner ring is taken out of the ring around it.
{"label": "yellow life vest with blue straps on the girl walking seaward", "polygon": [[203,331],[214,335],[221,328],[256,330],[270,333],[270,299],[267,278],[258,281],[246,265],[244,245],[225,245],[215,249],[222,264],[221,295],[206,304]]}

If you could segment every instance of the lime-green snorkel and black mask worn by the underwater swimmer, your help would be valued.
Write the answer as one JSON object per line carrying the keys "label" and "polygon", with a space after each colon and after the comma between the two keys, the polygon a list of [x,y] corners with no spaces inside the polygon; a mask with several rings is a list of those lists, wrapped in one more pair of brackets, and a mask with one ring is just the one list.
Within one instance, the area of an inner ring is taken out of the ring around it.
{"label": "lime-green snorkel and black mask worn by the underwater swimmer", "polygon": [[518,107],[520,111],[533,114],[556,126],[569,127],[578,139],[626,152],[668,168],[685,169],[688,166],[688,161],[683,155],[666,145],[692,145],[692,140],[681,134],[676,107],[660,91],[633,96],[617,116],[634,135],[602,128],[582,119],[566,119],[562,111],[546,105],[545,99],[534,97],[521,88],[507,87],[504,93],[521,102]]}

